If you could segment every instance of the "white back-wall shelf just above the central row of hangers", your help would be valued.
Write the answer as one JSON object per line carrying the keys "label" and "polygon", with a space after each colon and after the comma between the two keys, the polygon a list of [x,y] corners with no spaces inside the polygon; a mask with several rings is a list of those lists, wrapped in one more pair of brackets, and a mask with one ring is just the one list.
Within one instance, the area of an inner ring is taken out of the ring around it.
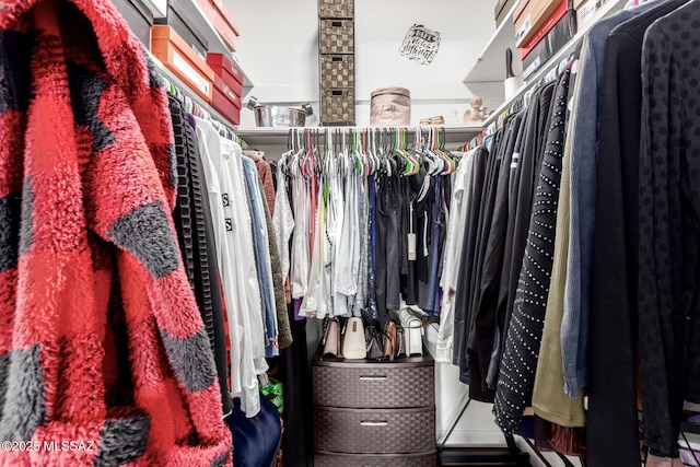
{"label": "white back-wall shelf just above the central row of hangers", "polygon": [[[350,129],[350,128],[364,128],[364,127],[306,127],[300,128],[304,129]],[[389,127],[394,128],[394,127]],[[408,130],[409,137],[413,137],[415,126],[406,127]],[[430,127],[421,127],[421,128],[430,128]],[[469,141],[471,138],[477,136],[481,131],[480,125],[462,125],[462,126],[442,126],[439,128],[444,128],[445,130],[445,143],[451,144],[453,148],[455,145],[460,145]],[[256,144],[266,144],[266,145],[277,145],[277,144],[287,144],[287,137],[289,135],[290,128],[265,128],[265,127],[238,127],[234,131],[237,137],[242,138],[249,145]],[[452,148],[448,148],[452,149]]]}

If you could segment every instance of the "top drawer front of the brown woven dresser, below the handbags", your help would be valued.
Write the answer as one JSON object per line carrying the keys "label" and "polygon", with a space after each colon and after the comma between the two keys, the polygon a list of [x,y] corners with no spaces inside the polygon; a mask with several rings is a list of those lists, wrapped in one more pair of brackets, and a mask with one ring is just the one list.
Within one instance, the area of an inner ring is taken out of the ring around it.
{"label": "top drawer front of the brown woven dresser, below the handbags", "polygon": [[313,366],[314,404],[351,408],[435,405],[433,366]]}

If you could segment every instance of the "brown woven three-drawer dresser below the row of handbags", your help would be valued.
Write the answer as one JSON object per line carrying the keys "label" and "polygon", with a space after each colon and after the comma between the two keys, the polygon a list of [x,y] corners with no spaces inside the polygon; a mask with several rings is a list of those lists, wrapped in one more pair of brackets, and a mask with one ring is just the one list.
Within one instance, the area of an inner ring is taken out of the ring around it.
{"label": "brown woven three-drawer dresser below the row of handbags", "polygon": [[434,361],[338,360],[316,354],[315,467],[434,467]]}

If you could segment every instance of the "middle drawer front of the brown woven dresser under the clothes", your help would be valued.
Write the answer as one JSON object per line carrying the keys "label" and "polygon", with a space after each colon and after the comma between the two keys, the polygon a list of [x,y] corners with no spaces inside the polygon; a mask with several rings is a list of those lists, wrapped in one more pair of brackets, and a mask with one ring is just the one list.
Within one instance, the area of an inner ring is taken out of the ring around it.
{"label": "middle drawer front of the brown woven dresser under the clothes", "polygon": [[314,410],[316,451],[363,454],[429,453],[435,451],[434,408]]}

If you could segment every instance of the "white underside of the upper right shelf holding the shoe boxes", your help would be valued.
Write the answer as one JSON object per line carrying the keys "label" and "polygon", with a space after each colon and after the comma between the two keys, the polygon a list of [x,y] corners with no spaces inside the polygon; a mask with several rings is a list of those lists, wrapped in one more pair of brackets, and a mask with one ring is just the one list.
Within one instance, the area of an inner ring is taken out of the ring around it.
{"label": "white underside of the upper right shelf holding the shoe boxes", "polygon": [[464,79],[465,84],[476,82],[493,82],[505,80],[505,49],[510,48],[516,55],[513,59],[513,72],[516,77],[523,74],[523,62],[515,48],[515,25],[513,13],[520,1],[511,8],[501,25],[495,30],[479,58],[469,68]]}

